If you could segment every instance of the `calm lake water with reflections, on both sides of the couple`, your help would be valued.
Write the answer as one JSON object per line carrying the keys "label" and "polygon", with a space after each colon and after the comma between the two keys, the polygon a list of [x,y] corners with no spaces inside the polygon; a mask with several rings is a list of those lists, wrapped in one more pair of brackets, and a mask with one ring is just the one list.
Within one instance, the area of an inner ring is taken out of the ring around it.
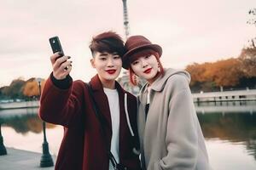
{"label": "calm lake water with reflections, on both sides of the couple", "polygon": [[[256,169],[256,101],[195,104],[213,169]],[[42,122],[35,110],[0,111],[4,144],[42,152]],[[57,154],[63,128],[47,123],[49,149]]]}

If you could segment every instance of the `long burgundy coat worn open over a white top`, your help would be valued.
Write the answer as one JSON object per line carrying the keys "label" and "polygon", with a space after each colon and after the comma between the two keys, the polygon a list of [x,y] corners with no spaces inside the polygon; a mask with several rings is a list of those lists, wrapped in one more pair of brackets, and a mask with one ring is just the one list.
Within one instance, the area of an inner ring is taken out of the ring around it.
{"label": "long burgundy coat worn open over a white top", "polygon": [[[64,127],[64,137],[57,156],[57,170],[108,170],[112,125],[108,106],[108,98],[103,92],[99,77],[90,81],[99,110],[107,123],[103,127],[107,140],[102,138],[100,122],[92,107],[87,87],[82,81],[72,82],[68,89],[55,87],[49,78],[40,99],[39,116],[45,122],[59,124]],[[119,93],[119,161],[128,169],[140,168],[138,156],[132,151],[138,144],[137,138],[137,100],[116,82]],[[131,137],[125,116],[125,94],[131,127],[136,138]],[[107,144],[106,144],[107,143]]]}

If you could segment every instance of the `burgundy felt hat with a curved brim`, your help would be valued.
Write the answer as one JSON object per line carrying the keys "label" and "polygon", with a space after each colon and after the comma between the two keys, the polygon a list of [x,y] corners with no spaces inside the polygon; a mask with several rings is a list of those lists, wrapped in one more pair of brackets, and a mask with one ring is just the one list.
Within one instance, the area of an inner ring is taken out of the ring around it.
{"label": "burgundy felt hat with a curved brim", "polygon": [[153,44],[146,37],[143,36],[129,37],[125,42],[125,48],[127,52],[123,56],[123,68],[126,70],[129,68],[130,65],[129,57],[131,57],[132,54],[136,53],[140,49],[151,48],[156,51],[159,56],[162,55],[162,48],[157,44]]}

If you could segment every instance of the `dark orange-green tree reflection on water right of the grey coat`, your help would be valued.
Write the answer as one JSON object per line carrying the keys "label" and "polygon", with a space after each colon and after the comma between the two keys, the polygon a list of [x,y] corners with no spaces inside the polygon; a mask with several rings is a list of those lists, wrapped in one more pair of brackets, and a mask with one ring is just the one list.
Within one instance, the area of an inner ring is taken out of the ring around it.
{"label": "dark orange-green tree reflection on water right of the grey coat", "polygon": [[229,141],[244,144],[247,153],[256,160],[256,114],[249,112],[198,114],[206,139]]}

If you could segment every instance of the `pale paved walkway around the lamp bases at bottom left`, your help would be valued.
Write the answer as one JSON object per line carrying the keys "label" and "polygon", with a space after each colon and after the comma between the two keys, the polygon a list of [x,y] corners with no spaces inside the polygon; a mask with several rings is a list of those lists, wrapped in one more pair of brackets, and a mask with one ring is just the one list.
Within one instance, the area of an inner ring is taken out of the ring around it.
{"label": "pale paved walkway around the lamp bases at bottom left", "polygon": [[[0,170],[54,170],[54,167],[40,167],[41,153],[6,148],[7,155],[0,156]],[[55,162],[55,156],[52,156]]]}

